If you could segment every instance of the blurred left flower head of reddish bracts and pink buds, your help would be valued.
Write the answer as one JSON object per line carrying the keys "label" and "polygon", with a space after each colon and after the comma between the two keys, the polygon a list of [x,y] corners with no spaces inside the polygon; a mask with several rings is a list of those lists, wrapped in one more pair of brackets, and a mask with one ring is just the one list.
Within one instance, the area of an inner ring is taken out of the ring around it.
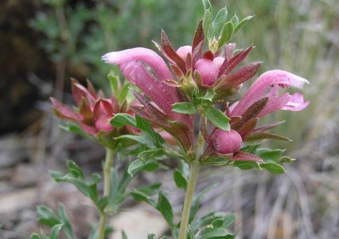
{"label": "blurred left flower head of reddish bracts and pink buds", "polygon": [[61,119],[78,122],[84,132],[93,136],[97,136],[100,130],[109,133],[113,130],[109,120],[117,113],[116,99],[113,95],[110,99],[103,98],[103,93],[96,93],[89,80],[87,84],[88,87],[85,88],[72,79],[72,94],[79,108],[78,112],[51,97],[55,114]]}

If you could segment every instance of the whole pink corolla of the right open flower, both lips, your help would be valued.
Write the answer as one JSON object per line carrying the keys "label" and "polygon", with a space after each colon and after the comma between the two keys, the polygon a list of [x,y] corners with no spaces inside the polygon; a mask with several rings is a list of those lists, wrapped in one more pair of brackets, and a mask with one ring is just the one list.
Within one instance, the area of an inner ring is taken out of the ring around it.
{"label": "whole pink corolla of the right open flower, both lips", "polygon": [[[252,84],[237,105],[234,107],[231,106],[231,109],[233,108],[231,116],[241,116],[249,106],[264,97],[269,97],[269,101],[267,106],[260,113],[259,117],[278,109],[293,111],[303,110],[310,104],[310,102],[308,101],[304,103],[303,97],[301,97],[300,93],[294,95],[284,93],[279,96],[278,89],[279,86],[282,88],[288,88],[290,86],[302,88],[305,83],[309,84],[309,81],[287,71],[267,71]],[[268,93],[265,93],[269,87],[271,88]]]}

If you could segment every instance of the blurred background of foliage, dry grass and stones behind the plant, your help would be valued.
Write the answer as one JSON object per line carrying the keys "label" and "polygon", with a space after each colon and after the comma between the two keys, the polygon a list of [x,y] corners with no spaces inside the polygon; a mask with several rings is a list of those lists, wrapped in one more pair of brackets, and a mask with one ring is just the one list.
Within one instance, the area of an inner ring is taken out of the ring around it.
{"label": "blurred background of foliage, dry grass and stones behind the plant", "polygon": [[[311,105],[266,119],[286,120],[273,132],[293,142],[271,140],[266,146],[298,159],[286,166],[287,173],[206,167],[197,190],[220,186],[206,195],[201,213],[236,213],[236,225],[243,225],[239,239],[339,238],[339,1],[211,3],[214,14],[227,4],[229,17],[255,15],[234,38],[238,48],[256,45],[246,63],[264,61],[260,73],[284,69],[307,78],[311,84],[304,93]],[[90,78],[106,91],[110,66],[100,60],[104,53],[135,46],[155,50],[151,39],[159,41],[161,28],[175,48],[191,44],[202,12],[197,0],[1,1],[0,238],[39,231],[36,205],[55,208],[58,201],[66,204],[79,238],[87,237],[98,215],[73,186],[53,182],[48,169],[64,170],[72,159],[84,171],[98,172],[104,150],[61,131],[48,97],[72,103],[70,77]],[[158,171],[137,181],[164,181],[179,216],[184,195],[172,177],[172,171]],[[112,218],[114,238],[120,226],[132,239],[145,238],[146,230],[166,233],[160,215],[147,205],[128,200],[123,207]]]}

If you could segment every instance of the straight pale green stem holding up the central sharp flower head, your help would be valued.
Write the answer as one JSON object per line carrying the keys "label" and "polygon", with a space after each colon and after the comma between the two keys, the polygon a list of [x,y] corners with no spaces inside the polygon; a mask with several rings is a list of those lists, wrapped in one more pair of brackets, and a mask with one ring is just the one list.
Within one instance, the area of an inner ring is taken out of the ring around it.
{"label": "straight pale green stem holding up the central sharp flower head", "polygon": [[200,169],[200,163],[198,161],[193,161],[191,163],[191,173],[190,173],[190,178],[188,180],[183,213],[181,215],[181,223],[180,223],[178,239],[186,239],[186,231],[187,231],[188,221],[190,217],[192,199],[194,196],[194,188],[195,188],[196,180],[198,178],[199,169]]}

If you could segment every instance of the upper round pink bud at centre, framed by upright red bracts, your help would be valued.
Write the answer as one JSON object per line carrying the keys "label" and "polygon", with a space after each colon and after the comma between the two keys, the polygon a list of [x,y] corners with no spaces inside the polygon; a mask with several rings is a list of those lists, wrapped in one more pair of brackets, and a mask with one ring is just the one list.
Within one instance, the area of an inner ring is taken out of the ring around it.
{"label": "upper round pink bud at centre, framed by upright red bracts", "polygon": [[204,85],[212,85],[218,78],[219,67],[209,59],[202,58],[197,61],[195,70],[199,72]]}

